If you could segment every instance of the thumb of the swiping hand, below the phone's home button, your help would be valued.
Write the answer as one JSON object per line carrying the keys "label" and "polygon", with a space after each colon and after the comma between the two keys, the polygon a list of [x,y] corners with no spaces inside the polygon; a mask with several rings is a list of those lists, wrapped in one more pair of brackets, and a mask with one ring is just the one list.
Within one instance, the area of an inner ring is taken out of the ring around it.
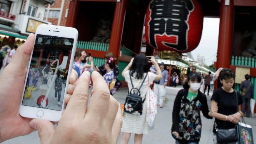
{"label": "thumb of the swiping hand, below the phone's home button", "polygon": [[49,142],[51,137],[53,136],[53,133],[55,132],[54,125],[48,121],[43,119],[33,119],[29,123],[31,127],[38,130],[38,135],[41,139],[41,144],[47,144]]}

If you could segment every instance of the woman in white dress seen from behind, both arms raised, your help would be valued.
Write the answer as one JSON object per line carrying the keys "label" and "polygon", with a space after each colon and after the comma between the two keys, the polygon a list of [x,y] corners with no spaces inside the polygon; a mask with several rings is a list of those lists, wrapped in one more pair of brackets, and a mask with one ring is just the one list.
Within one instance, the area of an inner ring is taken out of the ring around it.
{"label": "woman in white dress seen from behind, both arms raised", "polygon": [[[143,54],[137,54],[134,58],[132,58],[128,66],[126,66],[126,68],[122,72],[122,76],[126,79],[126,82],[128,83],[129,91],[132,89],[130,75],[133,85],[137,84],[137,86],[135,86],[136,88],[140,87],[143,78],[145,78],[146,76],[145,82],[142,84],[142,87],[140,89],[140,96],[142,97],[142,99],[145,99],[145,96],[149,90],[149,83],[152,83],[153,80],[160,80],[162,78],[162,73],[156,60],[153,56],[151,57],[152,58],[150,59],[150,61],[154,64],[154,66],[156,66],[157,74],[148,72],[147,57]],[[146,111],[147,106],[146,102],[144,102],[142,115],[137,116],[130,113],[124,113],[123,126],[121,129],[121,132],[123,132],[121,144],[128,144],[131,133],[135,133],[134,144],[141,144],[143,134],[148,134]]]}

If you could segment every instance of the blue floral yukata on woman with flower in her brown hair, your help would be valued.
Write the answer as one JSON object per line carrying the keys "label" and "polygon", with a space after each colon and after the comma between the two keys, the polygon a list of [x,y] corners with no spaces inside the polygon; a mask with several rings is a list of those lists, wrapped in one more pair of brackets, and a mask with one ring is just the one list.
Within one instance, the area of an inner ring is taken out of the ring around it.
{"label": "blue floral yukata on woman with flower in her brown hair", "polygon": [[[107,73],[107,71],[105,69],[105,64],[102,64],[102,66],[99,67],[99,71],[98,72],[102,76],[104,76]],[[114,88],[112,89],[112,93],[111,94],[114,94],[119,89],[119,87],[121,87],[121,85],[122,85],[122,83],[117,79],[118,78],[118,74],[119,74],[119,68],[118,68],[117,65],[113,68],[113,73],[114,73],[114,79],[116,80],[116,83],[115,83]]]}

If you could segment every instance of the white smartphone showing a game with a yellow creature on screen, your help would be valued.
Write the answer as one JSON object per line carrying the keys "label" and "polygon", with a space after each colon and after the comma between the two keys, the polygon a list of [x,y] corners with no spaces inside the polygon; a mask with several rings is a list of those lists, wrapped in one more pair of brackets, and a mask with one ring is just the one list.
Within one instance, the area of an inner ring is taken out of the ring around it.
{"label": "white smartphone showing a game with a yellow creature on screen", "polygon": [[41,24],[35,37],[19,114],[57,122],[64,110],[78,31]]}

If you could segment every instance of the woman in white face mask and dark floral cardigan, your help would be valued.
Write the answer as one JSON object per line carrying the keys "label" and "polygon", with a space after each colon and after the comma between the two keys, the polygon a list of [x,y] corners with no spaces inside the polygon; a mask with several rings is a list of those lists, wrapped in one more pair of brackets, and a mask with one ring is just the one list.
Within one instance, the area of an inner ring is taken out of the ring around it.
{"label": "woman in white face mask and dark floral cardigan", "polygon": [[[208,109],[206,95],[199,91],[201,76],[193,73],[183,84],[173,105],[172,136],[176,144],[198,144],[201,137],[201,117],[212,119]],[[214,109],[218,111],[218,107]]]}

